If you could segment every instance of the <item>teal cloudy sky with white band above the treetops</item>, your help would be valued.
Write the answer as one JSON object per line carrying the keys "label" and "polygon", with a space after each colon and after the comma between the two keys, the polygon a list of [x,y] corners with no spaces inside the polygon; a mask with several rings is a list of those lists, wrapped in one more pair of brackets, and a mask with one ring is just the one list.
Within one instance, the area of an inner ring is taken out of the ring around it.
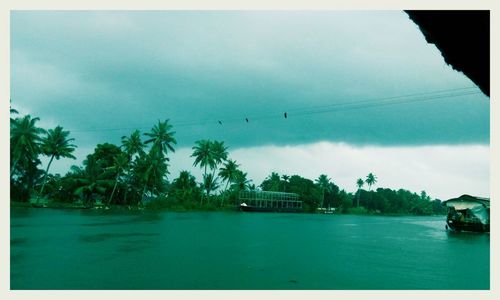
{"label": "teal cloudy sky with white band above the treetops", "polygon": [[200,178],[191,147],[216,139],[257,185],[327,174],[354,191],[373,172],[377,187],[489,196],[489,98],[400,11],[14,11],[11,99],[71,131],[63,174],[170,119],[170,178]]}

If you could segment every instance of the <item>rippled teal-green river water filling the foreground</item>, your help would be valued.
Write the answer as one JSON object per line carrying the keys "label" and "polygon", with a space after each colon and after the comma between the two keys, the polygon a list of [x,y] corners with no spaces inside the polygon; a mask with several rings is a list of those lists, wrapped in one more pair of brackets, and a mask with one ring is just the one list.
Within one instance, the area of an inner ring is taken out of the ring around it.
{"label": "rippled teal-green river water filling the foreground", "polygon": [[11,210],[12,289],[489,289],[444,217]]}

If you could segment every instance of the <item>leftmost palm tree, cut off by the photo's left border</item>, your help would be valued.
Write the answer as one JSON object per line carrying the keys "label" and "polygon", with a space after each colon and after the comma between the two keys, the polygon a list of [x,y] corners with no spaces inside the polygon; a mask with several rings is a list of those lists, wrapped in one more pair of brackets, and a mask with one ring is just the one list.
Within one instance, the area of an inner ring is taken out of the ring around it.
{"label": "leftmost palm tree, cut off by the photo's left border", "polygon": [[36,127],[39,118],[31,118],[26,115],[23,118],[16,118],[10,130],[11,159],[13,163],[10,169],[10,178],[19,160],[33,159],[41,152],[40,135],[45,132],[42,128]]}

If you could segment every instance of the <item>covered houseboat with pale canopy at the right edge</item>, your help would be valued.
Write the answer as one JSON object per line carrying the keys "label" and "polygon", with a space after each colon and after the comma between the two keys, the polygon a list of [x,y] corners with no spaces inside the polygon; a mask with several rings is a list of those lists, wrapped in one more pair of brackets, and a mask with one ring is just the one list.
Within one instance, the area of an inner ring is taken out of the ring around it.
{"label": "covered houseboat with pale canopy at the right edge", "polygon": [[443,202],[448,208],[445,228],[453,231],[490,232],[490,199],[462,195]]}

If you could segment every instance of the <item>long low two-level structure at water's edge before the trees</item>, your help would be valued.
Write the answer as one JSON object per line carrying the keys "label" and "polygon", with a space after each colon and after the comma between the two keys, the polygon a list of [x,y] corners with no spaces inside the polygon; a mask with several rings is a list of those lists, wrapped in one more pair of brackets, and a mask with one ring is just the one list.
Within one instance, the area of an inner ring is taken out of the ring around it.
{"label": "long low two-level structure at water's edge before the trees", "polygon": [[240,209],[243,211],[302,211],[302,201],[295,193],[241,191],[239,194]]}

